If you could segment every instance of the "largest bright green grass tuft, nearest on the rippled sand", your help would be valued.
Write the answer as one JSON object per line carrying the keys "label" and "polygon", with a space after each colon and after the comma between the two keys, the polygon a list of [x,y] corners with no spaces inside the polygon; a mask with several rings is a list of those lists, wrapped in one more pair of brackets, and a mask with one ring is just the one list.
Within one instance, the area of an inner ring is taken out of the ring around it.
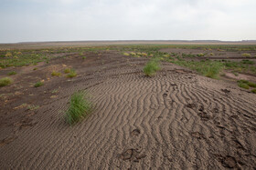
{"label": "largest bright green grass tuft, nearest on the rippled sand", "polygon": [[86,93],[76,92],[71,95],[69,109],[66,111],[65,117],[69,125],[77,123],[80,119],[91,113],[91,102],[88,100]]}

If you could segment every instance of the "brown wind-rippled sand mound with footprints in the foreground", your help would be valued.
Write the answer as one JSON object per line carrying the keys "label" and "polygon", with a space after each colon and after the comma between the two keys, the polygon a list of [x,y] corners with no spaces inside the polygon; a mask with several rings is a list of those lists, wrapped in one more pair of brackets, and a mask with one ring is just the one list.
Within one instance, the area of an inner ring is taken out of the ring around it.
{"label": "brown wind-rippled sand mound with footprints in the foreground", "polygon": [[[256,95],[169,63],[145,77],[146,58],[86,56],[16,68],[0,88],[0,169],[256,167]],[[50,75],[65,67],[79,76]],[[69,97],[85,89],[94,111],[69,126]]]}

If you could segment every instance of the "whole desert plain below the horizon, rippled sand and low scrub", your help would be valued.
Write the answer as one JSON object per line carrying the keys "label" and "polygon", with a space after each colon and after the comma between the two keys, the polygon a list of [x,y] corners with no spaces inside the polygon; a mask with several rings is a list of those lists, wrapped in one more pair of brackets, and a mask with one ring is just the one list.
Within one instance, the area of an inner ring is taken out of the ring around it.
{"label": "whole desert plain below the horizon, rippled sand and low scrub", "polygon": [[[0,169],[255,169],[255,62],[242,43],[0,45]],[[93,109],[69,125],[80,90]]]}

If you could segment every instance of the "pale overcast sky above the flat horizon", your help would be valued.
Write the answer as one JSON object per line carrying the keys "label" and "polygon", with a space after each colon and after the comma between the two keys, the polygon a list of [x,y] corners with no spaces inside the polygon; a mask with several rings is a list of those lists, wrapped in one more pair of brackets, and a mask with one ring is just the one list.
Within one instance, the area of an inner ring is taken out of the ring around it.
{"label": "pale overcast sky above the flat horizon", "polygon": [[256,39],[256,0],[0,0],[0,43]]}

